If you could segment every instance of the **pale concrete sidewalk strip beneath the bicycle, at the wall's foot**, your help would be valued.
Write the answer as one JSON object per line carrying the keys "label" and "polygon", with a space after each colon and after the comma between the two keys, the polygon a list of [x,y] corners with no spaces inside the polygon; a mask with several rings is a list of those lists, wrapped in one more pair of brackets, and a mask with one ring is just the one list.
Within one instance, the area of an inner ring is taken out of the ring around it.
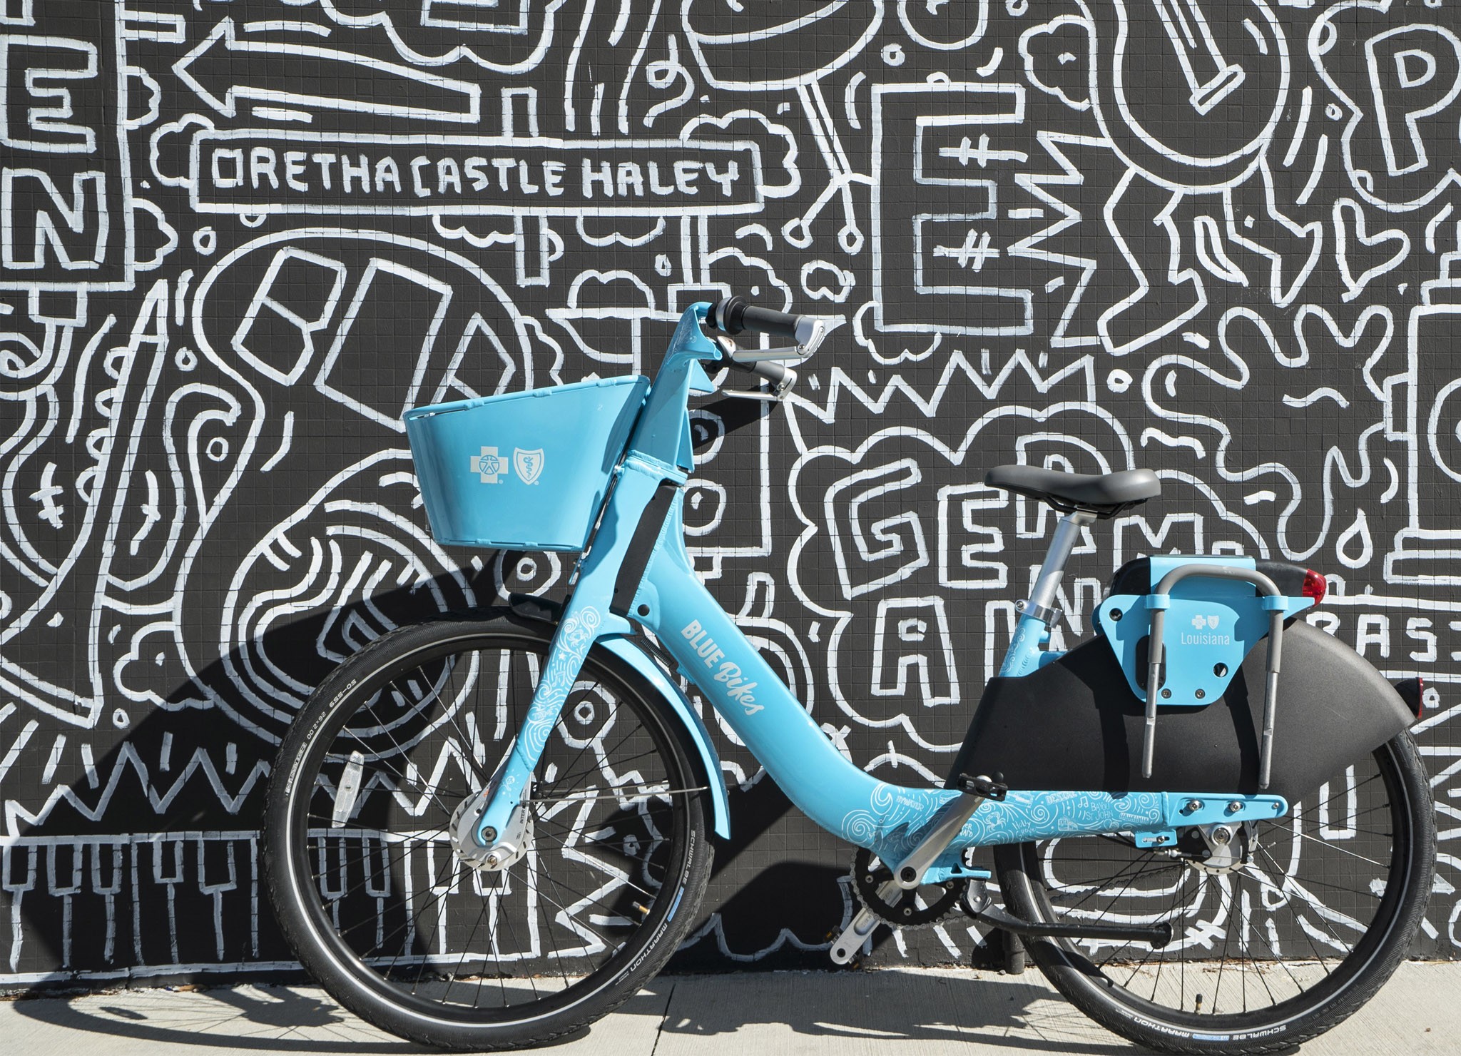
{"label": "pale concrete sidewalk strip beneath the bicycle, at the wall's foot", "polygon": [[[969,970],[665,976],[555,1056],[789,1053],[982,1056],[1140,1052],[1094,1025],[1039,971]],[[26,1056],[412,1053],[314,987],[126,990],[0,1002],[0,1052]],[[1404,964],[1311,1056],[1461,1052],[1461,964]]]}

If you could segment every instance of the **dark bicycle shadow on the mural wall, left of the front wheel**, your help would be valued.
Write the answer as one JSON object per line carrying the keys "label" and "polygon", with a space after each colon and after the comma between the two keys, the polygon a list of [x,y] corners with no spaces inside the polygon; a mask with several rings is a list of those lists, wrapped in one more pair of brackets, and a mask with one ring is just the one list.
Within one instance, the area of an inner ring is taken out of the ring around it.
{"label": "dark bicycle shadow on the mural wall, left of the front wheel", "polygon": [[[491,580],[488,564],[475,596],[489,596]],[[462,586],[443,574],[318,608],[247,635],[193,678],[174,672],[162,703],[117,723],[112,748],[53,793],[7,847],[6,895],[22,927],[0,946],[6,967],[48,976],[37,992],[291,970],[302,979],[270,917],[259,847],[279,738],[342,654],[434,615]],[[180,666],[162,653],[158,663]]]}

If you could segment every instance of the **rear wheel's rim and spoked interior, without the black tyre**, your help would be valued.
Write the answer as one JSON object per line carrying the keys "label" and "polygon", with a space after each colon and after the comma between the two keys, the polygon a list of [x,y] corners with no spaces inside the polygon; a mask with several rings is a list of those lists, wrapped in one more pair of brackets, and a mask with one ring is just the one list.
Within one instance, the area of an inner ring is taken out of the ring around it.
{"label": "rear wheel's rim and spoked interior, without the black tyre", "polygon": [[1385,745],[1259,822],[1248,866],[1207,873],[1119,838],[1052,840],[1026,849],[1029,894],[1048,920],[1172,923],[1161,951],[1043,941],[1109,999],[1205,1034],[1264,1030],[1335,1000],[1379,954],[1414,882],[1414,811]]}

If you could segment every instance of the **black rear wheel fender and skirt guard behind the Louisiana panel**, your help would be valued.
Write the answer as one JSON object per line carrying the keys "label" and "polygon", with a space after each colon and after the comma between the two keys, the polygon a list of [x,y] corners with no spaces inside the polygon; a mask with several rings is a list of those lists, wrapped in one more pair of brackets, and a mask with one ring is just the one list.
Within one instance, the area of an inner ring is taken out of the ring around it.
{"label": "black rear wheel fender and skirt guard behind the Louisiana panel", "polygon": [[1141,776],[1144,704],[1100,638],[1039,670],[993,678],[950,770],[1002,773],[1011,790],[1264,792],[1290,803],[1414,724],[1395,686],[1343,641],[1284,627],[1273,783],[1258,787],[1267,638],[1204,707],[1157,708],[1157,752]]}

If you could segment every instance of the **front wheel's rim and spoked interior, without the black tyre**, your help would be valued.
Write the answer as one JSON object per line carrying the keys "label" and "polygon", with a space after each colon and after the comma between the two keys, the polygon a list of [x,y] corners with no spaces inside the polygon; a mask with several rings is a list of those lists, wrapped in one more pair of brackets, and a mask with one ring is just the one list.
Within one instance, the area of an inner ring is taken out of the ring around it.
{"label": "front wheel's rim and spoked interior, without the black tyre", "polygon": [[[678,907],[694,774],[655,710],[593,662],[536,770],[532,850],[501,873],[453,853],[450,814],[507,752],[545,656],[510,635],[415,650],[345,691],[300,755],[289,889],[320,952],[397,1012],[562,1012],[622,980]],[[339,822],[352,762],[361,790]]]}

